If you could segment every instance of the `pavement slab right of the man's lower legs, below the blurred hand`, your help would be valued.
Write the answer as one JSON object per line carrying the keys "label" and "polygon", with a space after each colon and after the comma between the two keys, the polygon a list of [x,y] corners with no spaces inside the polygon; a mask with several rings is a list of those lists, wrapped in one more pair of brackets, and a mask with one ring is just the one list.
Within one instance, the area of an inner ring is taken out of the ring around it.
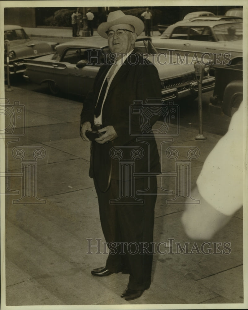
{"label": "pavement slab right of the man's lower legs, below the blurred hand", "polygon": [[[243,228],[240,219],[233,218],[212,240],[194,241],[185,234],[181,215],[182,212],[177,212],[155,219],[155,270],[157,264],[162,263],[165,268],[175,269],[198,281],[243,264]],[[159,242],[162,243],[158,247]],[[242,278],[238,279],[242,284]],[[228,280],[227,285],[231,286],[231,283]]]}

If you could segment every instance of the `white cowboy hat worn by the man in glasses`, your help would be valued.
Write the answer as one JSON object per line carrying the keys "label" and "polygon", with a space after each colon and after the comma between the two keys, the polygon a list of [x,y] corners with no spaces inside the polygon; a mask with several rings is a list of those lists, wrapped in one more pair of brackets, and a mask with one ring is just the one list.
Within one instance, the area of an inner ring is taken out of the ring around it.
{"label": "white cowboy hat worn by the man in glasses", "polygon": [[144,23],[138,17],[133,15],[125,15],[122,11],[110,12],[107,21],[98,26],[98,34],[107,39],[107,31],[109,27],[118,24],[130,24],[134,27],[134,32],[139,36],[145,28]]}

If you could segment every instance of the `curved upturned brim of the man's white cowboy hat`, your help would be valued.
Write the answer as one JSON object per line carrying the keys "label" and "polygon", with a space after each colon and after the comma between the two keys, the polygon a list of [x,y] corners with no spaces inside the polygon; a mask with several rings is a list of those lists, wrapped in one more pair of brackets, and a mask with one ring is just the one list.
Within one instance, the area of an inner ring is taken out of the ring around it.
{"label": "curved upturned brim of the man's white cowboy hat", "polygon": [[139,36],[142,33],[142,31],[145,29],[144,23],[138,17],[133,16],[133,15],[125,15],[125,16],[122,16],[120,18],[117,18],[109,22],[108,21],[103,22],[102,24],[98,26],[97,32],[102,38],[107,39],[108,36],[107,36],[106,31],[109,29],[109,27],[115,26],[118,24],[132,25],[134,27],[134,32],[137,33],[137,36]]}

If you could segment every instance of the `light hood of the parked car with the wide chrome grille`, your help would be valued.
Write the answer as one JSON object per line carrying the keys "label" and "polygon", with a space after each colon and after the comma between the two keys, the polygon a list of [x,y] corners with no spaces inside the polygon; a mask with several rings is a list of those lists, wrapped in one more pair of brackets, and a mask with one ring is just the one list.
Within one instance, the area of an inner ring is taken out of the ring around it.
{"label": "light hood of the parked car with the wide chrome grille", "polygon": [[[176,56],[171,56],[160,54],[151,55],[148,57],[150,62],[152,62],[159,72],[160,80],[167,80],[171,78],[181,77],[182,75],[194,73],[194,64],[181,64]],[[190,63],[192,58],[188,58]]]}

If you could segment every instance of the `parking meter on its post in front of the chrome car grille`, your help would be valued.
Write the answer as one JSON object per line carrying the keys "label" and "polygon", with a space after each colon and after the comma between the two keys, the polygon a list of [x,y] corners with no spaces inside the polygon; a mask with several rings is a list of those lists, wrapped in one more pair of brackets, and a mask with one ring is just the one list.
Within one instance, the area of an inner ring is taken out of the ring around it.
{"label": "parking meter on its post in front of the chrome car grille", "polygon": [[198,116],[199,116],[199,134],[196,136],[196,140],[207,139],[202,133],[202,79],[204,72],[209,70],[209,65],[205,65],[199,62],[194,62],[195,77],[198,83]]}

